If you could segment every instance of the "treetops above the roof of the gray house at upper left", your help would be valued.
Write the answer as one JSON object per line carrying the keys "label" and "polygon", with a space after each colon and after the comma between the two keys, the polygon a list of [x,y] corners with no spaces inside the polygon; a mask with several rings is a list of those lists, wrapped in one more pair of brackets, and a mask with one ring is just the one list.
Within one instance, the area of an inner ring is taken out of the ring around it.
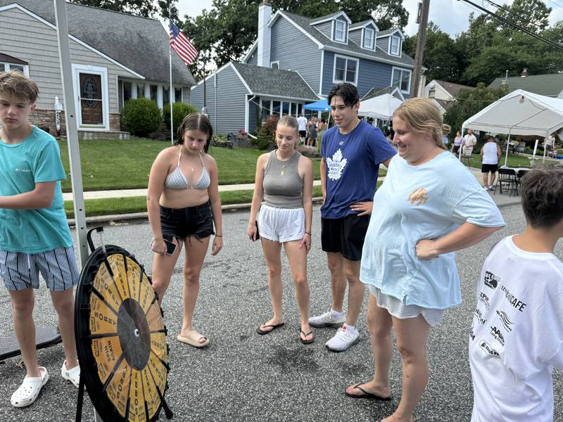
{"label": "treetops above the roof of the gray house at upper left", "polygon": [[[177,0],[69,0],[70,3],[83,4],[108,9],[115,12],[153,18],[160,15],[165,19],[178,20]],[[170,13],[169,13],[170,10]]]}

